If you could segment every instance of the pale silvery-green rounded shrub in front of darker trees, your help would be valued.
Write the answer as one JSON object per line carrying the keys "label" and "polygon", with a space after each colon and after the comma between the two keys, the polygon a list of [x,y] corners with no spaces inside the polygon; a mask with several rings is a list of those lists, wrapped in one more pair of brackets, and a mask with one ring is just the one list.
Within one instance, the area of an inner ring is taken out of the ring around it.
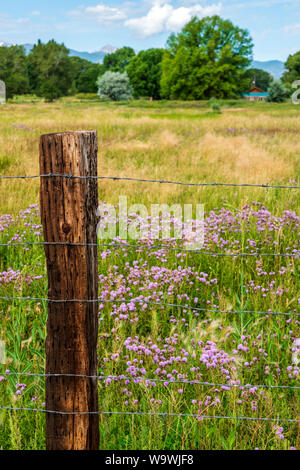
{"label": "pale silvery-green rounded shrub in front of darker trees", "polygon": [[105,72],[97,81],[101,98],[112,101],[128,101],[132,98],[132,88],[126,72]]}

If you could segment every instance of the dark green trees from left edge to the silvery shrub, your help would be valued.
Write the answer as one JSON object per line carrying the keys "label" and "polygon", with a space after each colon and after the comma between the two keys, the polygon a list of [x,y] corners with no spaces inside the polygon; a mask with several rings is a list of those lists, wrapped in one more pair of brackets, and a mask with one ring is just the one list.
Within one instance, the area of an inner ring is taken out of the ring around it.
{"label": "dark green trees from left edge to the silvery shrub", "polygon": [[64,44],[41,41],[26,55],[22,46],[0,47],[0,79],[8,98],[32,93],[52,101],[75,93],[96,93],[101,64],[70,57]]}

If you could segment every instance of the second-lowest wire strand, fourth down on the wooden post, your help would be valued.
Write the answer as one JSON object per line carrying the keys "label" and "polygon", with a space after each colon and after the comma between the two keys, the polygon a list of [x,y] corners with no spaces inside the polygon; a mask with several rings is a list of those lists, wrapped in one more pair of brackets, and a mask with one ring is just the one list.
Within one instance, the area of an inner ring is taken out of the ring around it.
{"label": "second-lowest wire strand, fourth down on the wooden post", "polygon": [[201,382],[197,379],[195,380],[168,380],[168,379],[152,379],[149,377],[127,377],[125,375],[84,375],[84,374],[37,374],[31,372],[0,372],[2,376],[16,376],[16,377],[78,377],[82,379],[97,379],[100,380],[125,380],[125,381],[133,381],[135,384],[141,382],[149,382],[149,383],[163,383],[163,384],[185,384],[185,385],[201,385],[206,387],[227,387],[227,388],[239,388],[240,390],[244,389],[252,389],[252,388],[265,388],[265,389],[291,389],[291,390],[300,390],[300,387],[294,385],[267,385],[267,384],[259,384],[259,385],[251,385],[251,384],[220,384],[220,383],[212,383],[212,382]]}

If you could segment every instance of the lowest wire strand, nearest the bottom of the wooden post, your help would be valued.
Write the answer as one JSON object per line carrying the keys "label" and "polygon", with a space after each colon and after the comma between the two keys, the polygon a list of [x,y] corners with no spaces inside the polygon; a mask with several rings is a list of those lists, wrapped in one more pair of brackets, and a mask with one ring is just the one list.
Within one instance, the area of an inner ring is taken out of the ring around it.
{"label": "lowest wire strand, nearest the bottom of the wooden post", "polygon": [[35,411],[39,413],[49,413],[58,415],[128,415],[128,416],[157,416],[157,417],[178,417],[178,418],[197,418],[199,420],[204,419],[227,419],[227,420],[239,420],[239,421],[272,421],[272,422],[288,422],[288,423],[300,423],[300,419],[289,419],[289,418],[263,418],[259,416],[207,416],[200,414],[186,414],[186,413],[151,413],[144,411],[54,411],[54,410],[43,410],[39,408],[10,408],[6,406],[0,406],[0,410],[8,411]]}

